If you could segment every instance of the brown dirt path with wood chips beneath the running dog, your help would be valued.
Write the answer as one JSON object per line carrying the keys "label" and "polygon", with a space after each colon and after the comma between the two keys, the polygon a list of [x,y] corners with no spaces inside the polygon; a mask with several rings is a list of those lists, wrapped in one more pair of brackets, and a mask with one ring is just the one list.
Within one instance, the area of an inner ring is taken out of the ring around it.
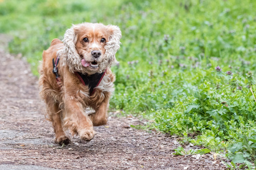
{"label": "brown dirt path with wood chips beneath the running dog", "polygon": [[[0,35],[0,40],[7,40]],[[110,113],[109,125],[96,127],[90,142],[72,137],[61,148],[45,121],[37,81],[23,59],[0,45],[0,169],[224,169],[211,154],[174,156],[176,138],[129,128],[133,117]],[[195,148],[195,147],[194,147]]]}

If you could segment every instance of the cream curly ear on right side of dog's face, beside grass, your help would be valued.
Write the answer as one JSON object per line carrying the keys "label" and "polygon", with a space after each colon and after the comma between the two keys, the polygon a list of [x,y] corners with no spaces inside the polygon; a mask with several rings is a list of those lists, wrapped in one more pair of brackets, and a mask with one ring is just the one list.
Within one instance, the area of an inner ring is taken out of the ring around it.
{"label": "cream curly ear on right side of dog's face, beside grass", "polygon": [[113,62],[117,62],[115,59],[115,53],[120,48],[120,39],[122,37],[122,33],[120,28],[115,25],[108,25],[109,37],[108,42],[105,45],[105,55],[109,58],[109,65],[112,65]]}

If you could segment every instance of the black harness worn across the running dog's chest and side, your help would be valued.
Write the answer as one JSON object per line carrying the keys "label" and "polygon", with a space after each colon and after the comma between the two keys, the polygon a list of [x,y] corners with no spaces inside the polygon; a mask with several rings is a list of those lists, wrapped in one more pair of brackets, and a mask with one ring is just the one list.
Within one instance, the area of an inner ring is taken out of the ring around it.
{"label": "black harness worn across the running dog's chest and side", "polygon": [[[59,86],[59,84],[61,84],[61,86],[62,86],[60,76],[58,75],[58,68],[57,68],[59,60],[60,60],[59,56],[57,56],[56,61],[54,61],[54,58],[52,58],[52,65],[53,65],[52,72],[56,76],[56,81],[57,81],[58,86]],[[96,73],[96,74],[92,74],[92,75],[82,74],[80,72],[75,72],[75,74],[80,79],[81,83],[84,86],[88,86],[89,93],[90,93],[90,95],[92,95],[92,94],[94,94],[94,92],[96,90],[95,87],[97,87],[98,84],[100,84],[102,78],[104,77],[106,70],[102,73]]]}

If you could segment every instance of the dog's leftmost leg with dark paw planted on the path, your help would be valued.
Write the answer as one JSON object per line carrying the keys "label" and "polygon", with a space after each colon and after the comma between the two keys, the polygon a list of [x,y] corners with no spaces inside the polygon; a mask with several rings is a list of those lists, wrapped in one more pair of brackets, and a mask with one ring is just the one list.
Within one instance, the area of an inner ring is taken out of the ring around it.
{"label": "dog's leftmost leg with dark paw planted on the path", "polygon": [[69,137],[65,134],[62,128],[61,122],[61,111],[59,106],[53,101],[52,97],[47,97],[46,100],[47,110],[49,118],[52,122],[53,129],[55,131],[55,142],[59,143],[59,145],[68,145],[70,142]]}

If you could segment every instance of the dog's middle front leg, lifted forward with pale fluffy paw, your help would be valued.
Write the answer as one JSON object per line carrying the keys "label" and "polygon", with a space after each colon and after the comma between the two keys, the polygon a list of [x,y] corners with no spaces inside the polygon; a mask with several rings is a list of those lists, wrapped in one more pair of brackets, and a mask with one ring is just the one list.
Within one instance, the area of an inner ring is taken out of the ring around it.
{"label": "dog's middle front leg, lifted forward with pale fluffy paw", "polygon": [[65,94],[64,126],[71,130],[72,135],[79,134],[80,138],[90,141],[94,137],[92,121],[84,114],[84,107],[76,97]]}

